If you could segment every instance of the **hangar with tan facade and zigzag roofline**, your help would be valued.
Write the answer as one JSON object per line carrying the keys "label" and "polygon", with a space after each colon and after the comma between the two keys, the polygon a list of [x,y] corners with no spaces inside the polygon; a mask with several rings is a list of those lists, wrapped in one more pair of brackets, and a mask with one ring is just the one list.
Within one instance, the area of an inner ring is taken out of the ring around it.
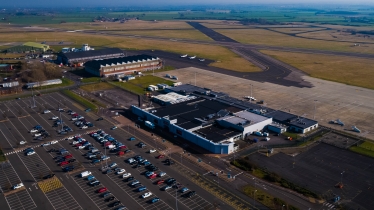
{"label": "hangar with tan facade and zigzag roofline", "polygon": [[87,72],[93,75],[107,77],[160,69],[162,67],[162,60],[150,55],[134,55],[110,59],[96,59],[86,62],[84,67]]}

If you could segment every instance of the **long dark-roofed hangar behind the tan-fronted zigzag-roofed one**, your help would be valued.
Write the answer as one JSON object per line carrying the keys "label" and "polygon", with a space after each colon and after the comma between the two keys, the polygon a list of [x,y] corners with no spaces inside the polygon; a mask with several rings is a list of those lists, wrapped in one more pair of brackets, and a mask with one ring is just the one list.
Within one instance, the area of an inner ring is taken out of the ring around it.
{"label": "long dark-roofed hangar behind the tan-fronted zigzag-roofed one", "polygon": [[[82,48],[86,48],[83,46]],[[57,62],[64,65],[83,64],[95,59],[108,59],[123,56],[119,48],[106,48],[101,50],[87,50],[78,52],[60,52],[57,55]]]}

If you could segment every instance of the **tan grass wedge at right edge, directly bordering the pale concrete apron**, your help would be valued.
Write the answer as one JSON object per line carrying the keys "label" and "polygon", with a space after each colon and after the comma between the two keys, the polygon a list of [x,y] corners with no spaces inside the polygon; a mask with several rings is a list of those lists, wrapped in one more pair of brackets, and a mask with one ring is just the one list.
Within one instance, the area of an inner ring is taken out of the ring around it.
{"label": "tan grass wedge at right edge, directly bordering the pale concrete apron", "polygon": [[374,60],[262,50],[312,77],[374,89]]}

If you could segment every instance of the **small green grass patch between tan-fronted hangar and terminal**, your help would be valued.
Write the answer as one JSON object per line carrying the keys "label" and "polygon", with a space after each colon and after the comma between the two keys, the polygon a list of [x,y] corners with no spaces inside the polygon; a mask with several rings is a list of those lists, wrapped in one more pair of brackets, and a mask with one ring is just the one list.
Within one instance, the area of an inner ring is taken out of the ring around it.
{"label": "small green grass patch between tan-fronted hangar and terminal", "polygon": [[144,95],[146,92],[149,92],[146,90],[149,85],[157,85],[159,83],[172,85],[173,81],[162,79],[160,77],[155,77],[152,75],[146,75],[137,77],[136,79],[130,80],[128,82],[112,82],[112,84],[138,95]]}

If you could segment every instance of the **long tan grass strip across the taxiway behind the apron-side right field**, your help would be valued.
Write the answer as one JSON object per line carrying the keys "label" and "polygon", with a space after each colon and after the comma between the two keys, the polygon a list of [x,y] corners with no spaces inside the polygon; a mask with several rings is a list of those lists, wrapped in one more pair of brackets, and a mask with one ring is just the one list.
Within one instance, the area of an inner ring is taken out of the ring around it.
{"label": "long tan grass strip across the taxiway behind the apron-side right field", "polygon": [[266,29],[217,29],[216,31],[238,42],[247,44],[374,53],[374,44],[367,44],[365,47],[352,47],[355,42],[331,42],[305,39]]}

